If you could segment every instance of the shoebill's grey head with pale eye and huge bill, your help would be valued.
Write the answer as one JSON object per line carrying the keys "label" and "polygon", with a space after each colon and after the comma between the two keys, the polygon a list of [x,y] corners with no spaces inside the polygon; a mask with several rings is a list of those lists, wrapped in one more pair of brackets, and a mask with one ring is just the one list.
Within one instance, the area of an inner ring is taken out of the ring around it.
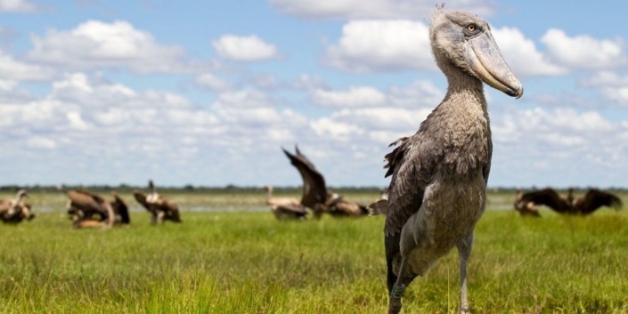
{"label": "shoebill's grey head with pale eye and huge bill", "polygon": [[523,95],[523,86],[503,60],[485,20],[467,12],[445,11],[438,5],[429,25],[429,39],[436,64],[445,73],[453,65],[509,96]]}

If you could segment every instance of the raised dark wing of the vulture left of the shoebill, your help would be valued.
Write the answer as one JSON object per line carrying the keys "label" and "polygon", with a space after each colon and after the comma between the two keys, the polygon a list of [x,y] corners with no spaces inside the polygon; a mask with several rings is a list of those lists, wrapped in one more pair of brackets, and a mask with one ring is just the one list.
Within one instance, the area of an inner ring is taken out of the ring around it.
{"label": "raised dark wing of the vulture left of the shoebill", "polygon": [[301,204],[312,209],[317,204],[324,204],[327,199],[327,188],[325,187],[325,179],[322,177],[322,174],[300,152],[298,152],[298,156],[290,154],[286,149],[283,149],[283,152],[290,159],[290,164],[294,165],[298,173],[301,174],[301,179],[303,180]]}

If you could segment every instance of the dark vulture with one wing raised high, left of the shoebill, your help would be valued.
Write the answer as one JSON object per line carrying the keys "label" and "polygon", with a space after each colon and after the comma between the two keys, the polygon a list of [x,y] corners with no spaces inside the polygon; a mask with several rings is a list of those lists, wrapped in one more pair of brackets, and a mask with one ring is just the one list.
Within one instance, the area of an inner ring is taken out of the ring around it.
{"label": "dark vulture with one wing raised high, left of the shoebill", "polygon": [[325,187],[325,179],[319,173],[314,164],[295,147],[296,154],[290,154],[283,149],[303,180],[303,196],[301,204],[312,209],[314,218],[320,219],[322,213],[330,213],[334,217],[363,216],[369,214],[366,206],[339,197],[336,193],[330,193]]}

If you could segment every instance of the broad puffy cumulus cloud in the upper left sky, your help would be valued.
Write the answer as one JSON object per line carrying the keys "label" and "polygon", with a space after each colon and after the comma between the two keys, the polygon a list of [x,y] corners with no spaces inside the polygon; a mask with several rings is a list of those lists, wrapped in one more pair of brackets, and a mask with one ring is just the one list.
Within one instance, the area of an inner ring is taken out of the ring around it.
{"label": "broad puffy cumulus cloud in the upper left sky", "polygon": [[126,21],[88,20],[70,30],[31,35],[29,60],[70,70],[129,68],[136,73],[190,73],[212,65],[186,60],[184,48],[162,45]]}

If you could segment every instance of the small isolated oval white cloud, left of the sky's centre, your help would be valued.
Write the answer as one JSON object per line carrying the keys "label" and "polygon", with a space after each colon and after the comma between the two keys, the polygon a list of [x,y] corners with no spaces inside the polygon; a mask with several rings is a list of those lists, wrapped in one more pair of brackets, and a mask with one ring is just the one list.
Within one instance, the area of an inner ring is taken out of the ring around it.
{"label": "small isolated oval white cloud, left of the sky's centre", "polygon": [[259,61],[279,58],[273,44],[267,44],[255,35],[224,35],[212,41],[211,45],[218,52],[218,56],[226,60]]}

